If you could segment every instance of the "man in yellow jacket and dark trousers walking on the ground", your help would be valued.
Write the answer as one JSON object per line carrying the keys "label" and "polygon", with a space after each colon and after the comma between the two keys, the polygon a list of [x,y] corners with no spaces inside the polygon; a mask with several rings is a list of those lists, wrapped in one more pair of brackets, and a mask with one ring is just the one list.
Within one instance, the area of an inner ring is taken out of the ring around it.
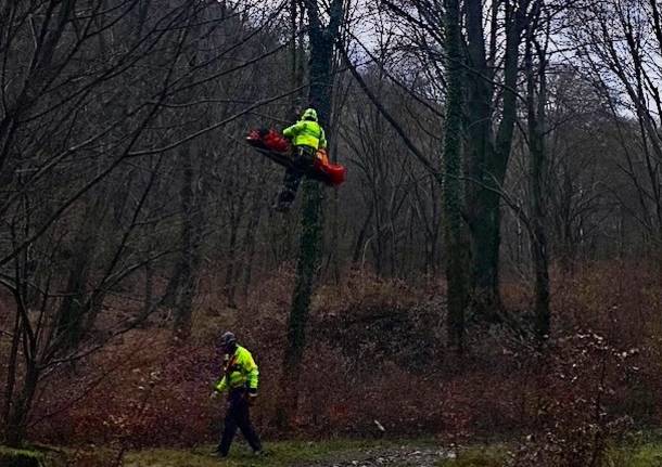
{"label": "man in yellow jacket and dark trousers walking on the ground", "polygon": [[250,417],[250,405],[257,397],[259,371],[253,355],[237,343],[232,333],[220,337],[226,360],[224,374],[214,384],[214,394],[228,391],[228,405],[222,437],[216,454],[226,457],[239,428],[255,454],[262,454],[262,443]]}

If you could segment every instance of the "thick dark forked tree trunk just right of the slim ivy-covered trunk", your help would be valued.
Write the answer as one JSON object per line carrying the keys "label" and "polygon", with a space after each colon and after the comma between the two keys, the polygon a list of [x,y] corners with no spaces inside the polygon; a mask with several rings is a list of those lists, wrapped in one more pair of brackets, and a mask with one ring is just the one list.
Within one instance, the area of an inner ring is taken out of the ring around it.
{"label": "thick dark forked tree trunk just right of the slim ivy-covered trunk", "polygon": [[523,28],[526,1],[506,8],[506,55],[504,64],[504,101],[501,120],[492,129],[494,99],[494,69],[485,56],[483,4],[468,0],[466,23],[468,35],[468,146],[467,210],[471,233],[471,288],[474,311],[496,319],[500,309],[499,247],[500,195],[512,146],[517,118],[517,78],[519,46]]}

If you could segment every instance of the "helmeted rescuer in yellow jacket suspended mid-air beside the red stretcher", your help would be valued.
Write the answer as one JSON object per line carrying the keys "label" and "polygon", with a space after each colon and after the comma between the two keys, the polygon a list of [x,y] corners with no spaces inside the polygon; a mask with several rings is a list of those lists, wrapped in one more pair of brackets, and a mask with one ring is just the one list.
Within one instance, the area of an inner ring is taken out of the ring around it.
{"label": "helmeted rescuer in yellow jacket suspended mid-air beside the red stretcher", "polygon": [[313,167],[317,151],[327,147],[323,128],[317,122],[317,111],[306,108],[296,124],[283,130],[283,135],[292,142],[294,164],[285,171],[283,186],[273,204],[273,209],[287,211],[296,197],[301,179]]}

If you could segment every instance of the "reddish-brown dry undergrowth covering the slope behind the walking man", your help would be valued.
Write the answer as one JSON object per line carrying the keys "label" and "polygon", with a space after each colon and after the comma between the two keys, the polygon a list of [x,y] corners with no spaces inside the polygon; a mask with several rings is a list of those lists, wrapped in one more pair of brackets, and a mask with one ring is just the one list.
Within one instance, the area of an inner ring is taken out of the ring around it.
{"label": "reddish-brown dry undergrowth covering the slope behind the walking man", "polygon": [[[164,327],[137,329],[84,365],[60,368],[39,395],[31,437],[116,446],[213,442],[222,403],[207,399],[208,385],[220,369],[215,339],[226,328],[260,365],[258,430],[268,439],[282,436],[276,418],[289,271],[263,280],[239,309],[228,309],[221,293],[206,285],[187,345],[174,345]],[[559,446],[595,452],[599,443],[590,440],[618,437],[627,415],[637,425],[659,425],[658,278],[652,270],[623,263],[590,264],[574,276],[555,271],[555,335],[540,360],[531,342],[481,323],[470,328],[469,351],[459,358],[445,346],[443,287],[417,288],[352,272],[338,286],[321,286],[314,298],[295,433],[381,436],[378,420],[386,436],[441,433],[461,441],[531,434],[522,463],[537,452],[555,465]],[[526,316],[527,286],[506,284],[504,297],[514,315]],[[581,336],[599,336],[611,350]],[[615,358],[619,352],[628,352],[627,365]],[[610,382],[596,392],[596,372],[603,363]],[[571,382],[574,374],[581,384]],[[576,445],[563,444],[574,439]]]}

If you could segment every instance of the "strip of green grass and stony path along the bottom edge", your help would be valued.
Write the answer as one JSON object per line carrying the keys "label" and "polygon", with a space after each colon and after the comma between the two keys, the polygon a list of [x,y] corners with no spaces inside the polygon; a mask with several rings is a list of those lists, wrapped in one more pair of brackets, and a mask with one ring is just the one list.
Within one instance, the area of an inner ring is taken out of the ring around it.
{"label": "strip of green grass and stony path along the bottom edge", "polygon": [[[618,467],[662,467],[662,438],[647,437],[637,442],[610,451],[606,465]],[[117,453],[106,450],[53,450],[61,455],[35,454],[40,463],[13,464],[9,457],[18,451],[0,446],[0,465],[18,466],[122,466],[122,467],[505,467],[512,466],[508,444],[475,444],[457,449],[442,446],[434,440],[380,441],[280,441],[266,445],[266,455],[253,455],[245,443],[237,442],[227,458],[218,458],[213,445],[192,449],[155,449]],[[41,450],[40,450],[41,451]],[[9,464],[5,464],[9,462]]]}

